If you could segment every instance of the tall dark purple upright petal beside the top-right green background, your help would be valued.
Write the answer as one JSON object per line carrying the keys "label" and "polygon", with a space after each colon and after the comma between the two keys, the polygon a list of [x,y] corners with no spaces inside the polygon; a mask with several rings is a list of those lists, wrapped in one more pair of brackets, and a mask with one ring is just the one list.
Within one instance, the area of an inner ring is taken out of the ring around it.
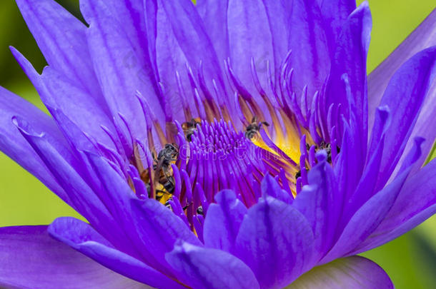
{"label": "tall dark purple upright petal beside the top-right green background", "polygon": [[[335,49],[332,71],[327,83],[326,106],[342,104],[345,119],[349,122],[347,132],[352,142],[342,140],[341,150],[349,146],[354,173],[349,184],[354,185],[362,173],[367,152],[367,87],[366,63],[372,28],[371,12],[363,2],[350,14],[342,26]],[[337,125],[339,125],[338,123]],[[342,136],[343,131],[340,131]]]}

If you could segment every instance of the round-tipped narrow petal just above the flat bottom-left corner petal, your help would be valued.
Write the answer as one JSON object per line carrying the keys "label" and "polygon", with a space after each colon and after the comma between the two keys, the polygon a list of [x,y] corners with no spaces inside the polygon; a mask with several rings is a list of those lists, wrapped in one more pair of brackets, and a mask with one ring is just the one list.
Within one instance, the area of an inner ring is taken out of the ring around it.
{"label": "round-tipped narrow petal just above the flat bottom-left corner petal", "polygon": [[157,288],[181,288],[154,268],[114,248],[94,228],[81,220],[71,217],[57,218],[49,225],[48,232],[117,273]]}

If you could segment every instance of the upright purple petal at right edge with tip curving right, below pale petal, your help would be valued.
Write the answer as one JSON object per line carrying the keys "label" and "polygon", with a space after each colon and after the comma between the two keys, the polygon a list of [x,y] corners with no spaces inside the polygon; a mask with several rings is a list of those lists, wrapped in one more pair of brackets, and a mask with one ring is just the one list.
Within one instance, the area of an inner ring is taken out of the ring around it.
{"label": "upright purple petal at right edge with tip curving right, below pale petal", "polygon": [[[383,95],[380,106],[390,108],[392,120],[385,136],[385,148],[376,189],[380,190],[390,178],[410,138],[425,94],[432,81],[435,56],[436,47],[413,56],[395,73]],[[376,146],[377,140],[372,139],[368,152],[370,155]],[[400,165],[399,163],[398,166]]]}

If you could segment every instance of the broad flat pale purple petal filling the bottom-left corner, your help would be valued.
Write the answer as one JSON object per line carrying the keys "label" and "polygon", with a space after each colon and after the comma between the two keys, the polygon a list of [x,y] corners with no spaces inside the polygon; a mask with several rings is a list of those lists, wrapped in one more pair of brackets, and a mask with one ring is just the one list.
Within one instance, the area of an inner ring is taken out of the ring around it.
{"label": "broad flat pale purple petal filling the bottom-left corner", "polygon": [[0,287],[149,288],[54,240],[46,225],[0,228]]}

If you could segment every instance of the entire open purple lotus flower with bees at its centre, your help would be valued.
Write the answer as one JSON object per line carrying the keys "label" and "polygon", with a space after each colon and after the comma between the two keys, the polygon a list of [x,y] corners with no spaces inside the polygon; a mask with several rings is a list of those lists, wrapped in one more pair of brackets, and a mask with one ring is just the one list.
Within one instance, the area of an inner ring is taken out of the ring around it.
{"label": "entire open purple lotus flower with bees at its centre", "polygon": [[1,286],[393,287],[356,254],[436,211],[435,12],[367,78],[366,2],[17,3],[51,116],[1,88],[0,149],[89,223],[0,228]]}

